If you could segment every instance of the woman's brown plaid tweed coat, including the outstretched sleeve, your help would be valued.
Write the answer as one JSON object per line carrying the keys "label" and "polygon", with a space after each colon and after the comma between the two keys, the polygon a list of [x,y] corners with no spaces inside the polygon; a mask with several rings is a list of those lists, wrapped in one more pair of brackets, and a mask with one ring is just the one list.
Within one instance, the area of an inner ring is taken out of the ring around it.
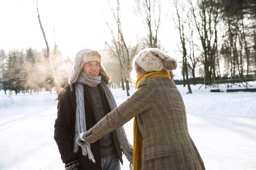
{"label": "woman's brown plaid tweed coat, including the outstretched sleeve", "polygon": [[137,90],[83,134],[93,143],[135,117],[141,138],[142,170],[204,170],[190,138],[183,99],[167,78],[143,79]]}

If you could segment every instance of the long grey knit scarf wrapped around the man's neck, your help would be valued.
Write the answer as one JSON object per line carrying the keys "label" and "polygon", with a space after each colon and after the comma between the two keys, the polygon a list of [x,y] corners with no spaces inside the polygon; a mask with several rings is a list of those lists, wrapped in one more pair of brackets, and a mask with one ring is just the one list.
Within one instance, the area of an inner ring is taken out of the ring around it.
{"label": "long grey knit scarf wrapped around the man's neck", "polygon": [[[106,98],[108,100],[109,107],[111,111],[117,107],[116,101],[114,99],[114,96],[108,87],[108,84],[105,83],[105,81],[101,80],[101,76],[98,77],[92,77],[84,72],[81,72],[79,74],[79,77],[76,81],[76,135],[75,135],[75,140],[74,140],[74,152],[78,151],[79,144],[76,142],[77,138],[80,138],[80,134],[84,133],[87,131],[86,129],[86,121],[85,121],[85,111],[84,111],[84,86],[83,84],[90,86],[90,87],[96,87],[98,84],[102,87],[102,89],[105,92]],[[122,150],[130,162],[130,169],[131,169],[131,164],[133,162],[133,152],[131,149],[131,145],[127,139],[127,136],[125,135],[125,129],[124,127],[119,127],[116,130],[118,140],[121,144]],[[90,144],[87,142],[83,142],[82,145],[80,145],[82,148],[82,153],[83,155],[87,155],[90,160],[92,160],[95,163],[95,159],[93,157],[93,154],[90,150]]]}

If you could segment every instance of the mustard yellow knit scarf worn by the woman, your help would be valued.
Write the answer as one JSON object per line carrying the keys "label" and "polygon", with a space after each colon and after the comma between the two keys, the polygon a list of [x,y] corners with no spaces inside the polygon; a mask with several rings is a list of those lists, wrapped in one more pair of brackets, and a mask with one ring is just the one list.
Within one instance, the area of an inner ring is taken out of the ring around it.
{"label": "mustard yellow knit scarf worn by the woman", "polygon": [[[161,72],[149,72],[144,75],[141,75],[136,83],[135,83],[135,89],[137,89],[137,86],[139,82],[143,78],[171,78],[171,75],[168,71],[161,71]],[[141,170],[141,154],[142,154],[142,144],[143,140],[140,138],[139,132],[137,130],[137,124],[134,118],[134,145],[133,145],[133,169],[134,170]]]}

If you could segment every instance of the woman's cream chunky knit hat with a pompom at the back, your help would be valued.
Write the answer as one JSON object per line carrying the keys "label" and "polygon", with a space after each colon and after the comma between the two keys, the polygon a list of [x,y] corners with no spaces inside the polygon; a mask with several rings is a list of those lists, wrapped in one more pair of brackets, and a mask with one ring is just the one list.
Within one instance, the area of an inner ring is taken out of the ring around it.
{"label": "woman's cream chunky knit hat with a pompom at the back", "polygon": [[146,72],[160,72],[163,70],[175,70],[177,61],[168,54],[156,48],[141,50],[135,57],[134,61]]}

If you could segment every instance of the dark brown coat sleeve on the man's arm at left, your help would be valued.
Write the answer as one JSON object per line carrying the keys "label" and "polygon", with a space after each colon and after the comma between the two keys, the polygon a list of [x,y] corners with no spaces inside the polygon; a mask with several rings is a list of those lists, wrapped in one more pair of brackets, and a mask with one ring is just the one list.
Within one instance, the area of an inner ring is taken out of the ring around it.
{"label": "dark brown coat sleeve on the man's arm at left", "polygon": [[58,145],[63,163],[76,158],[73,151],[73,116],[75,115],[72,108],[70,92],[63,89],[58,95],[58,112],[54,125],[54,139]]}

